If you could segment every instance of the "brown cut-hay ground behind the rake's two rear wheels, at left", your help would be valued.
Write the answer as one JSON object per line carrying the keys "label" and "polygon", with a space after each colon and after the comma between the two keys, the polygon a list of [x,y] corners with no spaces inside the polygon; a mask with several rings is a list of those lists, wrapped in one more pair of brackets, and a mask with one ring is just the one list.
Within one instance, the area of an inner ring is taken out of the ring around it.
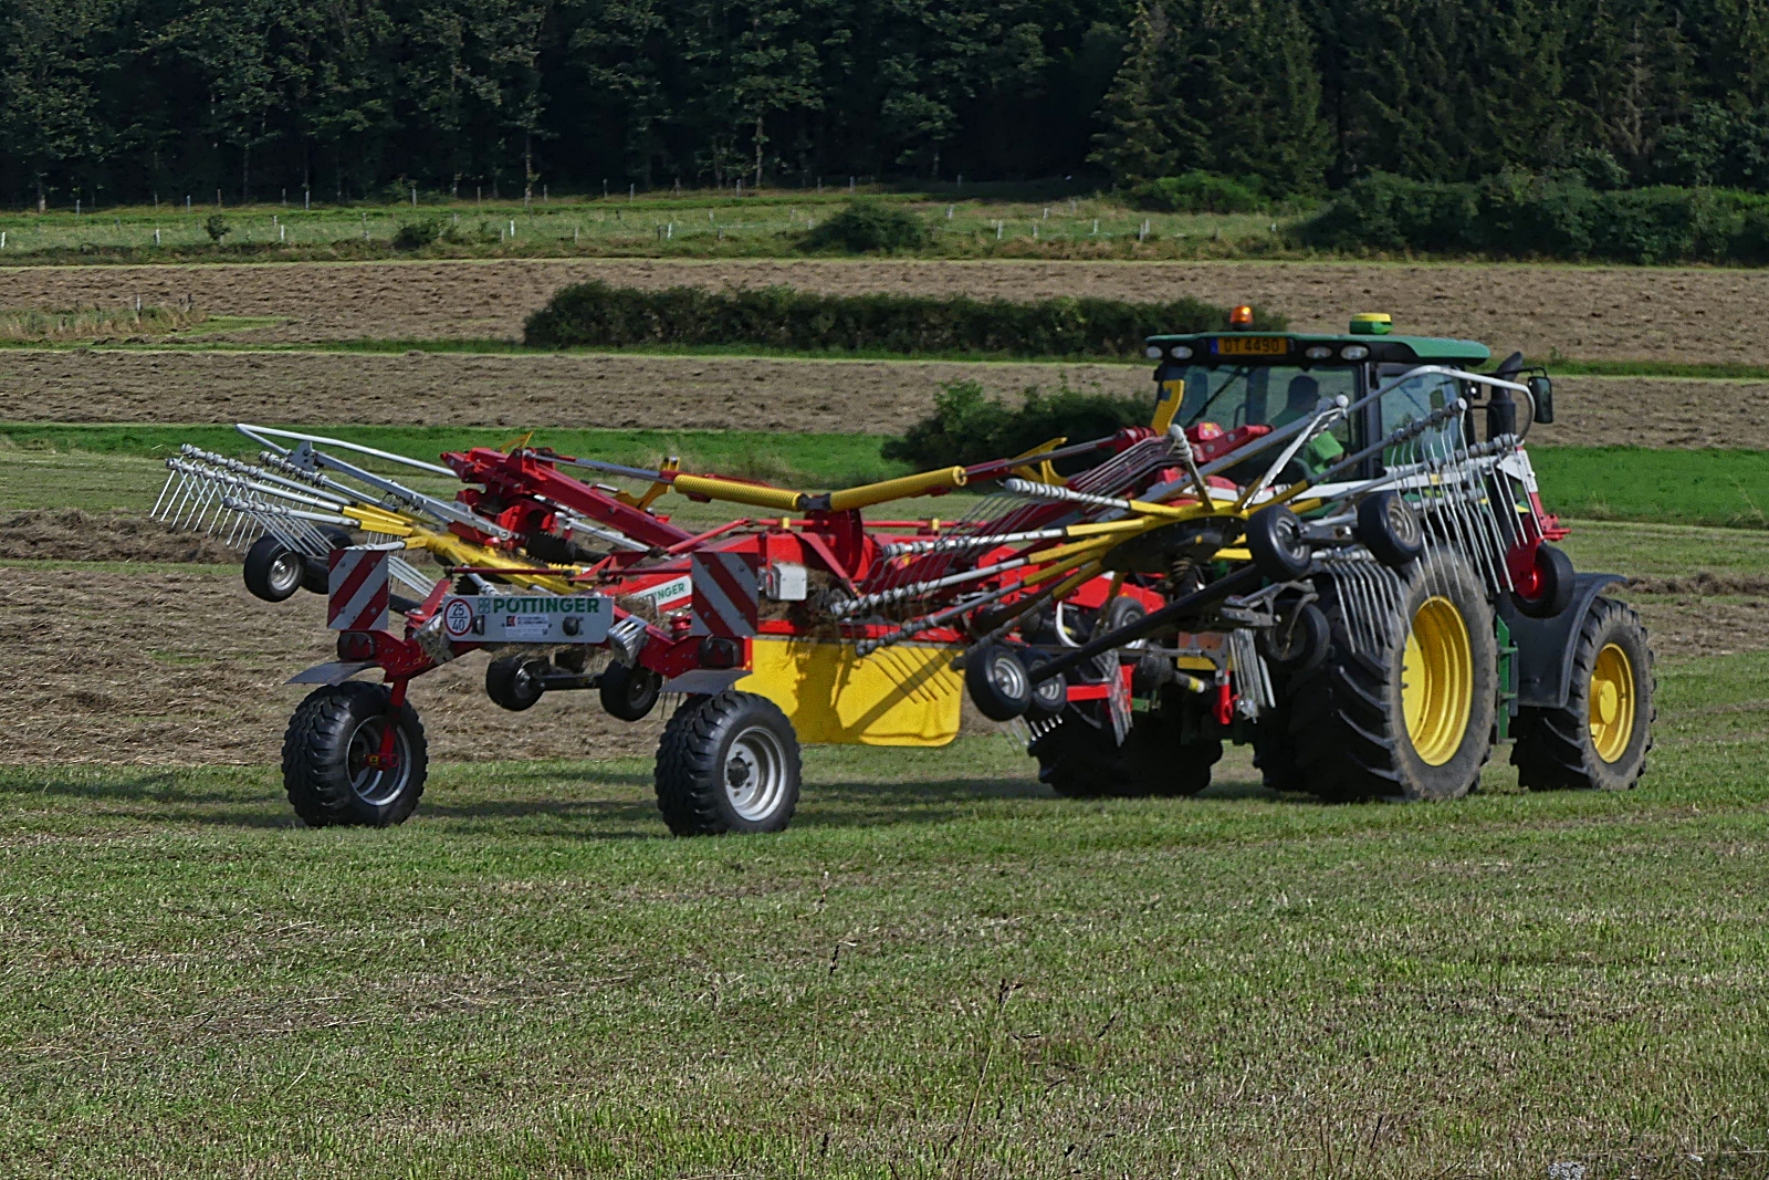
{"label": "brown cut-hay ground behind the rake's two rear wheels, at left", "polygon": [[[237,566],[12,568],[7,591],[5,762],[276,762],[308,692],[283,681],[334,658],[322,598],[258,601]],[[662,709],[626,725],[594,693],[559,693],[518,718],[486,699],[483,678],[474,655],[412,686],[430,757],[614,757],[653,748],[662,731]]]}

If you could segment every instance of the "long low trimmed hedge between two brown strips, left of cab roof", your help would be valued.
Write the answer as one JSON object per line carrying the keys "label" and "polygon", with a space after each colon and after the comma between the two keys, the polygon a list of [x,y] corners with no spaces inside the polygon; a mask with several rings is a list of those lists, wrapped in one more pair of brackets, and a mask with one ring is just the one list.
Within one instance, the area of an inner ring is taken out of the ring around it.
{"label": "long low trimmed hedge between two brown strips, left of cab roof", "polygon": [[[1286,322],[1254,310],[1254,327]],[[1130,357],[1157,333],[1228,327],[1228,308],[1198,299],[971,299],[968,295],[816,295],[791,287],[711,292],[578,283],[529,317],[524,340],[566,349],[754,345],[796,352]]]}

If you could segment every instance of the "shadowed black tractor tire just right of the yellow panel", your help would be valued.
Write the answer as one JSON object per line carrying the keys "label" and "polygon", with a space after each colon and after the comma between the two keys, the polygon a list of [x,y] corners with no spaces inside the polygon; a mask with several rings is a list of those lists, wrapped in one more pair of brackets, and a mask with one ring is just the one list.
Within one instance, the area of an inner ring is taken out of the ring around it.
{"label": "shadowed black tractor tire just right of the yellow panel", "polygon": [[1038,782],[1068,800],[1185,798],[1210,785],[1222,743],[1180,743],[1176,727],[1160,713],[1137,713],[1118,745],[1109,720],[1091,725],[1072,711],[1028,754],[1038,759]]}

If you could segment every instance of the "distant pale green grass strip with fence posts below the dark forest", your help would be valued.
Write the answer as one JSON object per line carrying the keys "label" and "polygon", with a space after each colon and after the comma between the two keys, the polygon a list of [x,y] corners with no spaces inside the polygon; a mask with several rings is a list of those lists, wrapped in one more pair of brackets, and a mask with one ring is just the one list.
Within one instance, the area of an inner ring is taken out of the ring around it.
{"label": "distant pale green grass strip with fence posts below the dark forest", "polygon": [[[925,251],[945,255],[991,253],[1120,253],[1139,246],[1162,257],[1274,251],[1277,230],[1295,212],[1274,214],[1162,214],[1125,205],[1099,193],[976,196],[966,193],[874,195],[913,209],[934,230]],[[830,188],[764,191],[743,198],[690,191],[683,195],[624,193],[598,196],[534,196],[451,200],[419,195],[417,203],[313,205],[265,202],[221,207],[193,198],[161,207],[119,207],[101,212],[55,209],[0,212],[0,264],[119,260],[189,262],[200,258],[290,260],[334,257],[387,257],[394,235],[412,223],[432,223],[442,237],[417,251],[437,258],[472,257],[768,257],[791,255],[819,221],[839,212],[851,196]],[[218,246],[207,230],[221,216],[228,234]],[[1145,232],[1146,223],[1146,232]]]}

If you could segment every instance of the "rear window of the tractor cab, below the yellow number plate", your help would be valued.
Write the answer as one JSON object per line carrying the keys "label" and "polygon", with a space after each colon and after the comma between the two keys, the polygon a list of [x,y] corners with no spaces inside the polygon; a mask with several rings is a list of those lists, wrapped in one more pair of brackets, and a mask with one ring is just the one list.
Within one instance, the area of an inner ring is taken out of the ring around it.
{"label": "rear window of the tractor cab, below the yellow number plate", "polygon": [[[1222,430],[1237,426],[1288,426],[1314,412],[1321,398],[1344,395],[1357,400],[1357,370],[1295,364],[1192,364],[1183,379],[1180,410],[1173,421],[1182,426],[1215,423]],[[1309,442],[1297,455],[1307,474],[1332,467],[1352,446],[1352,426],[1341,419],[1332,430]]]}

